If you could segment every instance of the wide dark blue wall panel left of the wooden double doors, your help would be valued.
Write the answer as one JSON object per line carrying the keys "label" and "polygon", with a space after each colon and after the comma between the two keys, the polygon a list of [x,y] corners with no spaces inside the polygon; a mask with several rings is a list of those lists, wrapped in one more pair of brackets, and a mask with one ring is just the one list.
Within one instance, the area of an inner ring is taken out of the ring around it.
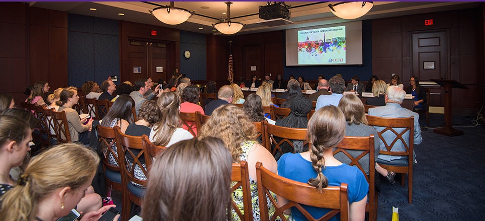
{"label": "wide dark blue wall panel left of the wooden double doors", "polygon": [[[68,14],[68,84],[120,77],[119,21]],[[118,84],[118,83],[117,83]]]}

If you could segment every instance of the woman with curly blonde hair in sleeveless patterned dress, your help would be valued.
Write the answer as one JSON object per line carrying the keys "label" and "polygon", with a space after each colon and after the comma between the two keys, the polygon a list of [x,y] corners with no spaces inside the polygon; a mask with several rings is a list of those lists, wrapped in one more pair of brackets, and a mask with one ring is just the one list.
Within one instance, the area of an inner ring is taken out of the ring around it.
{"label": "woman with curly blonde hair in sleeveless patterned dress", "polygon": [[[253,123],[244,114],[243,109],[232,104],[225,104],[214,110],[199,133],[199,139],[206,137],[221,139],[231,152],[233,163],[248,161],[253,216],[255,220],[259,220],[256,162],[262,162],[265,168],[274,173],[276,173],[277,164],[273,155],[256,141],[256,129]],[[238,207],[243,208],[243,197],[240,189],[233,195]],[[271,207],[270,209],[274,208]],[[236,216],[233,213],[233,217]]]}

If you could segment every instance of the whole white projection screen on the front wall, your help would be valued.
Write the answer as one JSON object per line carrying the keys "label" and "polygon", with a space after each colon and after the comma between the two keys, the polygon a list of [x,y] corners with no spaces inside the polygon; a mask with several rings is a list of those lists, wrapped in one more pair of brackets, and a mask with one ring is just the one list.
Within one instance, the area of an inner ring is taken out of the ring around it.
{"label": "whole white projection screen on the front wall", "polygon": [[362,65],[362,22],[285,30],[286,66]]}

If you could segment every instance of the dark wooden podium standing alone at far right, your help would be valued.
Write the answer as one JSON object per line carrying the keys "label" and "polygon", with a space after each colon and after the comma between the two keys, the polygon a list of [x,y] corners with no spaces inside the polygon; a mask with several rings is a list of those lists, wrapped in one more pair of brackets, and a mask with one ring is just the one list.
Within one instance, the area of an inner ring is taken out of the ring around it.
{"label": "dark wooden podium standing alone at far right", "polygon": [[455,80],[429,79],[445,88],[445,127],[434,129],[433,132],[446,136],[463,135],[463,131],[453,128],[452,88],[468,89],[465,85]]}

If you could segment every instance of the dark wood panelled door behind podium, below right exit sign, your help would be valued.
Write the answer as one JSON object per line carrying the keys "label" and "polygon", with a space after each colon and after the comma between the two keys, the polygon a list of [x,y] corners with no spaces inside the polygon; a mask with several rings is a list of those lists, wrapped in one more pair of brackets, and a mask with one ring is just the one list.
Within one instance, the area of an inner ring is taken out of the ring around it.
{"label": "dark wood panelled door behind podium, below right exit sign", "polygon": [[[450,52],[448,31],[433,31],[412,33],[412,75],[417,76],[420,82],[429,79],[440,79],[450,75]],[[409,79],[403,79],[408,82]],[[443,88],[431,86],[429,105],[443,106]]]}

